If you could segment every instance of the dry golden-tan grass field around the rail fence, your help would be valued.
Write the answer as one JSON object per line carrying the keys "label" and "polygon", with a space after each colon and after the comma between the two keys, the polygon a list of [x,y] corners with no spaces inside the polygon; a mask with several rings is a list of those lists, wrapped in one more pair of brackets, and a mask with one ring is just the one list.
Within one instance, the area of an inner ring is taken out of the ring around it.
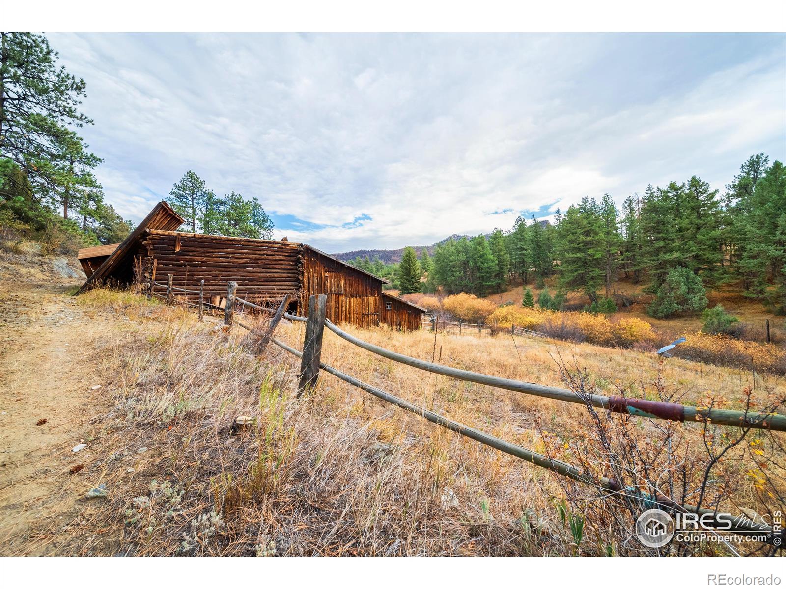
{"label": "dry golden-tan grass field around the rail fence", "polygon": [[[104,458],[96,484],[111,489],[106,521],[123,530],[129,554],[222,555],[559,555],[637,554],[619,529],[586,509],[586,537],[575,541],[556,504],[567,488],[556,474],[487,448],[384,404],[322,373],[317,390],[296,401],[295,358],[270,346],[255,357],[244,332],[199,324],[193,313],[130,294],[94,290],[90,308],[111,306],[142,328],[109,334],[101,368],[114,375],[115,409],[98,438]],[[545,385],[564,386],[556,354],[586,368],[598,391],[647,396],[661,379],[686,403],[722,398],[741,408],[755,385],[766,404],[784,380],[700,367],[651,353],[538,339],[474,338],[421,331],[349,331],[387,349]],[[300,348],[301,324],[277,335]],[[323,361],[461,423],[570,463],[590,430],[586,410],[431,375],[395,364],[326,333]],[[252,431],[230,436],[237,415]],[[642,440],[656,424],[629,421]],[[685,452],[700,460],[698,424],[678,427]],[[763,439],[763,437],[762,437]],[[783,437],[776,438],[783,443]],[[777,446],[760,441],[768,452]],[[572,445],[571,445],[572,444]],[[138,452],[138,448],[147,448]],[[589,452],[585,448],[585,452]],[[740,458],[740,457],[737,457]],[[741,459],[741,458],[740,458]],[[722,507],[764,513],[740,459],[722,465],[735,481]],[[130,470],[133,469],[133,472]],[[597,507],[600,493],[585,492]],[[571,499],[567,496],[567,499]],[[562,503],[560,503],[562,505]],[[571,502],[571,509],[578,503]],[[601,512],[602,513],[602,512]],[[575,520],[572,520],[575,521]],[[630,523],[630,521],[628,522]],[[116,549],[116,547],[115,547]],[[718,553],[722,547],[700,547]]]}

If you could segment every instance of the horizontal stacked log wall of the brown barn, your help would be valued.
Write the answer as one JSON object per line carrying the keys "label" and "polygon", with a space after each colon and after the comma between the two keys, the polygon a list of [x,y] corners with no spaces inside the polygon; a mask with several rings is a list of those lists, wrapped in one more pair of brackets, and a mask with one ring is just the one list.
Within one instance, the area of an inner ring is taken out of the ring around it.
{"label": "horizontal stacked log wall of the brown barn", "polygon": [[[156,282],[163,284],[171,274],[175,287],[196,290],[204,280],[208,302],[212,295],[226,297],[230,280],[237,282],[237,296],[249,302],[279,301],[300,288],[299,243],[156,230],[147,232],[142,243],[148,258],[146,279],[155,271]],[[196,300],[198,295],[188,298]]]}

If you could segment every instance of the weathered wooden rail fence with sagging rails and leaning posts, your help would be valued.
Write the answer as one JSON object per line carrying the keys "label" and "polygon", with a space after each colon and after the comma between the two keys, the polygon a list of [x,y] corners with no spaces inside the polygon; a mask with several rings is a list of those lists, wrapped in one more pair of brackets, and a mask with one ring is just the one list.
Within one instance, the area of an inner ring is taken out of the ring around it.
{"label": "weathered wooden rail fence with sagging rails and leaning posts", "polygon": [[[201,296],[203,287],[200,285],[200,291],[189,291],[188,289],[173,287],[171,284],[171,276],[167,281],[167,285],[160,283],[152,283],[151,294],[159,298],[165,298],[167,303],[174,304],[175,302],[185,303],[186,305],[196,306],[199,309],[200,319],[203,316],[204,308],[219,309],[217,305],[204,302],[204,297]],[[156,293],[155,286],[167,287],[166,296]],[[174,291],[185,291],[189,293],[200,294],[200,302],[198,305],[190,302],[177,301],[174,299]],[[454,431],[462,436],[469,437],[472,440],[479,441],[481,444],[496,448],[501,452],[509,455],[516,456],[533,463],[542,468],[552,470],[565,477],[569,477],[575,481],[582,482],[586,485],[591,485],[599,488],[604,492],[629,496],[632,499],[639,500],[642,504],[647,506],[657,505],[671,510],[680,510],[681,512],[694,513],[705,516],[702,521],[710,521],[718,526],[727,525],[728,518],[734,517],[729,514],[720,514],[717,510],[710,510],[704,507],[691,505],[688,503],[676,503],[667,496],[659,493],[643,492],[638,488],[623,487],[615,479],[608,477],[595,477],[591,474],[582,472],[575,466],[564,463],[560,460],[549,458],[538,452],[530,449],[523,448],[518,444],[512,444],[499,437],[486,434],[483,431],[476,430],[471,426],[466,426],[449,419],[438,413],[429,411],[428,409],[419,407],[415,404],[406,401],[401,397],[396,397],[391,393],[387,393],[380,388],[362,382],[354,376],[340,371],[338,368],[333,368],[328,364],[321,361],[322,338],[324,335],[325,327],[328,331],[343,338],[345,341],[350,342],[354,346],[365,349],[370,353],[375,353],[380,357],[393,360],[401,364],[406,364],[414,368],[420,368],[424,371],[433,372],[435,374],[444,375],[453,379],[460,379],[467,382],[476,382],[477,384],[496,387],[498,389],[512,390],[518,393],[531,394],[538,397],[545,397],[554,399],[556,401],[565,401],[569,403],[591,405],[595,408],[601,408],[610,412],[626,413],[630,415],[637,415],[648,419],[665,419],[669,421],[692,421],[697,423],[712,423],[721,426],[737,426],[743,429],[759,429],[759,430],[773,430],[773,431],[786,431],[786,415],[774,413],[758,413],[758,412],[739,412],[726,409],[715,408],[696,408],[689,405],[666,403],[662,401],[648,401],[645,399],[636,399],[628,397],[607,397],[604,395],[593,394],[589,397],[579,395],[573,390],[561,389],[554,386],[542,386],[533,382],[521,382],[512,379],[502,379],[498,376],[485,375],[479,372],[468,370],[461,370],[459,368],[451,368],[443,364],[435,364],[426,360],[420,360],[406,356],[405,354],[393,352],[389,349],[384,349],[380,346],[375,346],[372,343],[365,342],[362,339],[356,338],[354,335],[343,331],[340,327],[332,324],[331,321],[325,318],[325,304],[327,297],[325,294],[311,295],[309,298],[308,315],[296,316],[287,313],[287,305],[290,300],[290,295],[285,296],[277,309],[265,308],[260,305],[245,301],[236,296],[237,284],[230,282],[227,285],[226,304],[224,305],[224,324],[232,326],[237,324],[247,331],[255,333],[259,340],[257,342],[257,349],[259,352],[263,351],[269,342],[273,342],[276,346],[284,349],[288,353],[300,359],[299,383],[297,396],[300,397],[303,393],[308,393],[314,390],[319,378],[319,371],[323,370],[330,375],[347,382],[358,389],[364,390],[366,393],[372,394],[374,397],[393,404],[396,407],[402,408],[415,415],[419,415],[428,421],[443,426],[448,430]],[[234,311],[237,305],[241,305],[241,309],[249,307],[265,313],[273,313],[270,323],[263,331],[256,331],[254,327],[244,324],[241,320],[236,320]],[[300,321],[306,324],[305,337],[303,339],[303,351],[292,348],[285,342],[281,342],[273,337],[273,333],[281,318],[285,317],[288,320]],[[462,326],[465,324],[462,324]],[[476,326],[477,327],[477,326]],[[463,327],[462,327],[463,328]],[[718,518],[722,515],[723,518]],[[716,519],[717,518],[717,519]],[[766,536],[767,543],[775,546],[780,546],[782,542],[783,530],[773,530],[773,528],[766,525],[759,525],[749,518],[744,516],[734,517],[736,522],[737,531],[741,535],[748,536]]]}

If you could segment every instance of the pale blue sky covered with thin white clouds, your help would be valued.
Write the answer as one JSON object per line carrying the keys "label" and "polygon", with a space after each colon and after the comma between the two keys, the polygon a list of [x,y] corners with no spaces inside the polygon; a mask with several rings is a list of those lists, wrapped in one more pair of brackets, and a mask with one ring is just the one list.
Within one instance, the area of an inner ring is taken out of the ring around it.
{"label": "pale blue sky covered with thin white clouds", "polygon": [[786,35],[51,34],[108,201],[194,170],[325,251],[509,229],[784,159]]}

